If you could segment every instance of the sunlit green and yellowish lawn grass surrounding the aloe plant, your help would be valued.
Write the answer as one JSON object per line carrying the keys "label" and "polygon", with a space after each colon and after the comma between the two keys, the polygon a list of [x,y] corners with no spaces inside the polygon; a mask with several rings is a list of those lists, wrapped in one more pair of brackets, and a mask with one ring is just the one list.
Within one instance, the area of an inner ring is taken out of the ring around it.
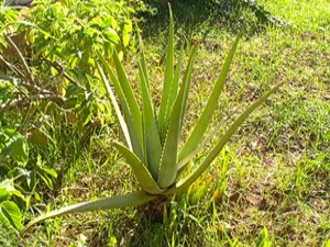
{"label": "sunlit green and yellowish lawn grass surrounding the aloe plant", "polygon": [[[268,246],[271,243],[271,246],[328,247],[330,3],[258,2],[289,25],[270,26],[241,41],[219,112],[222,110],[226,117],[231,117],[271,86],[286,83],[237,133],[211,169],[187,193],[170,199],[164,221],[155,216],[151,221],[144,207],[76,214],[50,220],[21,237],[1,228],[0,239],[8,242],[0,245]],[[188,127],[202,110],[209,83],[216,80],[234,34],[223,22],[204,20],[189,30],[184,29],[185,23],[178,25],[177,35],[190,41],[199,40],[208,31],[197,55]],[[151,78],[155,99],[162,90],[160,69],[164,66],[167,33],[160,26],[145,30],[144,42],[147,60],[154,68]],[[127,64],[133,75],[134,54],[127,58]],[[216,115],[213,122],[219,117]],[[61,175],[62,184],[53,192],[47,191],[45,203],[50,207],[123,194],[136,187],[129,166],[110,146],[110,141],[118,136],[117,126],[109,124],[91,136],[90,145],[79,148],[74,143],[78,137],[64,137],[58,143],[63,150],[55,161],[69,167]],[[73,157],[75,147],[79,151]],[[199,154],[195,162],[202,157]]]}

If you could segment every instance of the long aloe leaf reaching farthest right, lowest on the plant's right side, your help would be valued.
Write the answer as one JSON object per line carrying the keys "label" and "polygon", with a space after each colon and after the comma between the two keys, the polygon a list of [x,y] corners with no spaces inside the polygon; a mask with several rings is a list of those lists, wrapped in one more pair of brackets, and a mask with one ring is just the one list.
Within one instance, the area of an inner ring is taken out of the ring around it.
{"label": "long aloe leaf reaching farthest right, lowest on the plant's right side", "polygon": [[187,189],[191,183],[194,183],[201,173],[210,166],[210,164],[215,160],[215,158],[219,155],[221,149],[228,143],[229,138],[235,133],[235,131],[244,123],[244,121],[249,117],[249,115],[261,105],[272,93],[274,93],[283,83],[275,86],[273,89],[267,91],[262,98],[256,100],[253,104],[251,104],[230,126],[230,128],[224,133],[222,138],[216,145],[216,147],[211,150],[211,153],[206,157],[204,162],[199,165],[194,171],[187,176],[186,178],[179,180],[175,187],[167,190],[166,193],[176,193]]}

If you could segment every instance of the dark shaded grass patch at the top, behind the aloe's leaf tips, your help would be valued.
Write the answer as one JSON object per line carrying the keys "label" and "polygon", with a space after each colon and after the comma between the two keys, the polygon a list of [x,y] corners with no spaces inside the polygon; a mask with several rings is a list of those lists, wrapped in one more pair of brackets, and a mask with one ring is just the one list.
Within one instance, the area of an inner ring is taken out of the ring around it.
{"label": "dark shaded grass patch at the top, behind the aloe's leaf tips", "polygon": [[[168,7],[166,0],[145,0],[155,10],[138,13],[145,37],[158,36],[168,26]],[[279,19],[273,18],[255,1],[249,0],[180,0],[169,1],[179,36],[186,40],[193,37],[209,37],[227,32],[233,35],[251,36],[265,30],[266,25],[283,26]]]}

